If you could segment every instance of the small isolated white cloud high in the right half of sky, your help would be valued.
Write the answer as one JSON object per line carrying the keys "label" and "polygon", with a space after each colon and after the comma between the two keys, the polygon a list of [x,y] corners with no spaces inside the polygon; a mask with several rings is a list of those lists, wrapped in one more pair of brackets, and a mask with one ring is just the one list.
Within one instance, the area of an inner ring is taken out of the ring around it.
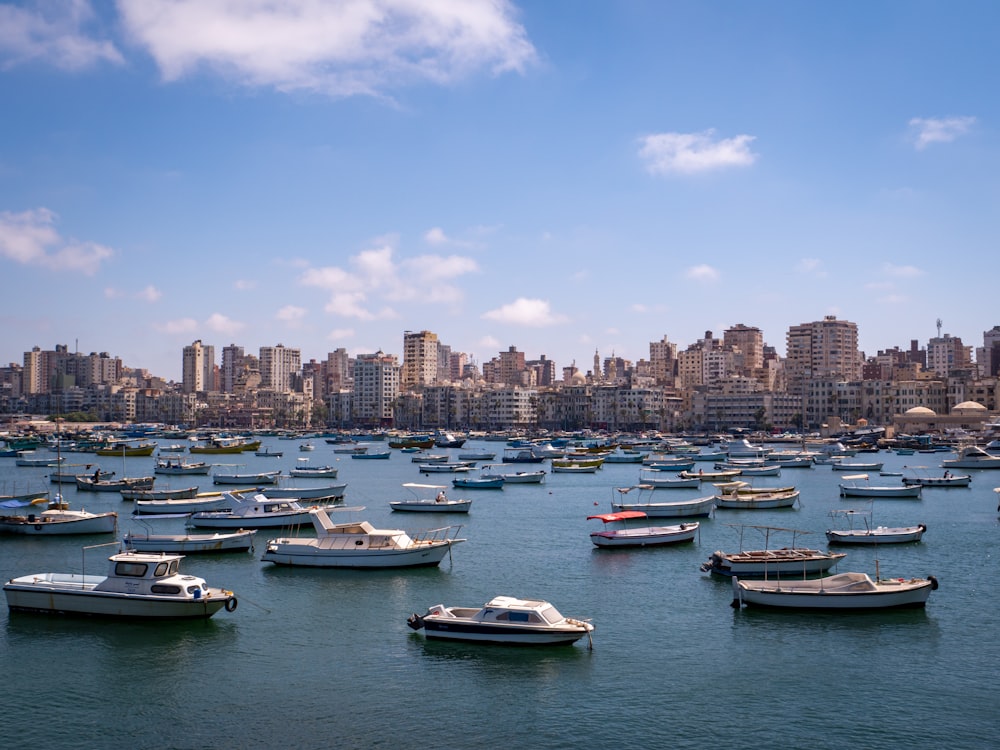
{"label": "small isolated white cloud high in the right half of sky", "polygon": [[748,167],[757,159],[750,151],[752,135],[713,140],[702,133],[654,133],[639,139],[639,158],[650,174],[694,174],[724,167]]}

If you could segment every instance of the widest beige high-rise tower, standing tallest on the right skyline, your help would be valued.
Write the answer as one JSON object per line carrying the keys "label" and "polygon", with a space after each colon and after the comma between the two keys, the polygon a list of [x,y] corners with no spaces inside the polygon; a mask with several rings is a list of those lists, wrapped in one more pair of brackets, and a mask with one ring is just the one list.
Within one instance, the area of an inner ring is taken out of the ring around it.
{"label": "widest beige high-rise tower, standing tallest on the right skyline", "polygon": [[861,379],[858,326],[827,315],[823,320],[788,329],[785,370],[789,392],[804,395],[805,383],[817,378]]}

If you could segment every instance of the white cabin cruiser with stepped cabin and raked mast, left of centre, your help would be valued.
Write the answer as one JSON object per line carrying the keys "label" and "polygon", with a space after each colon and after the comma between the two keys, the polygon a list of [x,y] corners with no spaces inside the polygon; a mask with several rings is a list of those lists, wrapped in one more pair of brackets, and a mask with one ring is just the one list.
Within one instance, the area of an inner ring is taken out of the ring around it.
{"label": "white cabin cruiser with stepped cabin and raked mast, left of centre", "polygon": [[334,523],[323,508],[309,511],[315,538],[272,539],[261,560],[278,565],[319,568],[408,568],[438,565],[453,545],[461,526],[446,526],[419,534],[401,529],[377,529],[367,521]]}

